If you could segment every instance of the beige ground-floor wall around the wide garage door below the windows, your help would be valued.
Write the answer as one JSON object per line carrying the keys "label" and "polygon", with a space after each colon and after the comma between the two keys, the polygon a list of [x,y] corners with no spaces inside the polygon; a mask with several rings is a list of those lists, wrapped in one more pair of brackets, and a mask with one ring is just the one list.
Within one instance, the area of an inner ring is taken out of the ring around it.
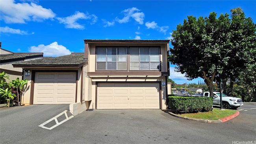
{"label": "beige ground-floor wall around the wide garage door below the windows", "polygon": [[[104,82],[104,81],[123,81],[123,82],[132,82],[132,81],[138,81],[138,82],[145,82],[145,81],[150,81],[150,82],[154,82],[154,81],[161,81],[161,83],[165,83],[165,77],[164,76],[160,76],[160,77],[150,77],[150,78],[146,78],[146,77],[97,77],[97,78],[92,78],[92,101],[91,101],[91,105],[90,105],[90,109],[94,109],[95,105],[96,105],[96,82]],[[161,107],[162,109],[166,109],[166,88],[165,85],[161,85]]]}

